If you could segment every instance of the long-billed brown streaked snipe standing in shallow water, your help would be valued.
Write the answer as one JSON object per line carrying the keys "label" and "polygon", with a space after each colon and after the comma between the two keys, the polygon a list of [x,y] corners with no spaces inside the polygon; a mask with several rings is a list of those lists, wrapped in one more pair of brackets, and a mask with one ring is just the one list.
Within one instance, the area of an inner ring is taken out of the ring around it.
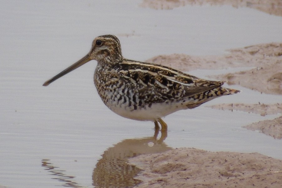
{"label": "long-billed brown streaked snipe standing in shallow water", "polygon": [[224,81],[209,81],[164,65],[125,59],[119,39],[111,34],[96,37],[87,55],[47,80],[43,86],[96,60],[94,84],[103,103],[116,114],[152,121],[167,130],[163,117],[192,109],[214,98],[240,92],[225,88]]}

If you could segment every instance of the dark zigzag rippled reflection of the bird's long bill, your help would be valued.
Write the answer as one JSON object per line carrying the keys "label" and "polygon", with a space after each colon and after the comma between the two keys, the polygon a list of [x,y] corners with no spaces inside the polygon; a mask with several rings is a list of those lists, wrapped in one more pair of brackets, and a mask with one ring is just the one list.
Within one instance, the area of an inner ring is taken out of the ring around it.
{"label": "dark zigzag rippled reflection of the bird's long bill", "polygon": [[48,163],[48,161],[49,161],[49,159],[42,159],[41,160],[41,162],[42,162],[41,166],[45,167],[44,170],[48,170],[49,172],[51,172],[52,173],[51,175],[55,175],[56,178],[52,178],[52,179],[64,182],[64,184],[62,185],[64,187],[76,187],[76,188],[82,187],[82,186],[78,185],[78,183],[70,180],[70,179],[75,178],[75,176],[66,175],[64,173],[65,170],[55,170],[56,168],[59,168],[59,167],[53,166],[53,164]]}

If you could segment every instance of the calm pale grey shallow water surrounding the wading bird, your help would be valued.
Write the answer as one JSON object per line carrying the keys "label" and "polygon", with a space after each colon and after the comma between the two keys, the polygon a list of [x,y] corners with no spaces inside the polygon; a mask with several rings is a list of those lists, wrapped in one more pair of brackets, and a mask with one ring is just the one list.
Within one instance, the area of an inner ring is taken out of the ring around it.
{"label": "calm pale grey shallow water surrounding the wading bird", "polygon": [[[279,115],[203,105],[167,116],[168,137],[152,144],[152,122],[119,117],[102,103],[92,81],[95,61],[42,86],[84,56],[101,34],[117,35],[129,59],[220,55],[230,48],[281,42],[281,17],[229,6],[153,10],[135,1],[3,1],[0,10],[0,185],[99,187],[95,177],[105,168],[98,170],[96,164],[106,161],[115,175],[134,176],[138,170],[132,166],[118,171],[127,157],[176,147],[259,152],[282,159],[281,140],[241,128]],[[232,87],[243,92],[207,104],[282,101],[281,96]]]}

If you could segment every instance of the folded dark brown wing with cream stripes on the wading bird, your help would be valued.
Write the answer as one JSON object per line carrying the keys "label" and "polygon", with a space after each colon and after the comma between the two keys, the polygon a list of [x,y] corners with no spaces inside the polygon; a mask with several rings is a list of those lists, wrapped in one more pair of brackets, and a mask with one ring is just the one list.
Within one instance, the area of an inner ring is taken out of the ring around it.
{"label": "folded dark brown wing with cream stripes on the wading bird", "polygon": [[121,77],[129,80],[131,87],[151,102],[181,99],[223,84],[222,81],[199,79],[163,65],[123,60],[119,67]]}

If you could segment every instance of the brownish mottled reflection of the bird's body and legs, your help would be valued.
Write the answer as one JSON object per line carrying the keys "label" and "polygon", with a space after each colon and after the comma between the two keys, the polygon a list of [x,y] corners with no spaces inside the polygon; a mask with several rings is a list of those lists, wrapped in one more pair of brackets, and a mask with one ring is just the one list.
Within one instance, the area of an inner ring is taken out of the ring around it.
{"label": "brownish mottled reflection of the bird's body and legs", "polygon": [[93,170],[93,185],[104,187],[133,187],[140,183],[134,177],[141,171],[134,165],[129,165],[128,158],[141,154],[160,153],[171,148],[163,143],[167,132],[157,140],[159,129],[153,137],[126,139],[108,148]]}

